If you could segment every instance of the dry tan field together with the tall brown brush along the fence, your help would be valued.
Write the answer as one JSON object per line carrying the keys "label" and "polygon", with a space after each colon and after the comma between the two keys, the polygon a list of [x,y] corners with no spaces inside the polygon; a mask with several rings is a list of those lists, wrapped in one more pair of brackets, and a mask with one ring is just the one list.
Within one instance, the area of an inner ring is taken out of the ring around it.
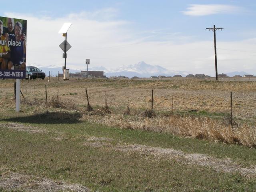
{"label": "dry tan field together with the tall brown brush along the fence", "polygon": [[[13,80],[5,80],[0,84],[0,103],[4,108],[14,108],[13,84]],[[89,103],[94,112],[86,112],[85,88],[88,90]],[[86,120],[122,128],[165,131],[194,138],[256,145],[253,135],[256,120],[256,83],[253,81],[63,81],[52,78],[50,81],[23,80],[21,90],[25,98],[21,98],[22,111],[44,112],[49,107],[77,110],[84,114],[83,118]],[[148,119],[142,114],[151,109],[152,90],[155,118]],[[232,128],[231,91],[234,124]],[[106,104],[108,112],[104,113]],[[125,115],[127,110],[129,115]],[[248,135],[241,132],[248,132]],[[245,138],[241,138],[241,134]]]}

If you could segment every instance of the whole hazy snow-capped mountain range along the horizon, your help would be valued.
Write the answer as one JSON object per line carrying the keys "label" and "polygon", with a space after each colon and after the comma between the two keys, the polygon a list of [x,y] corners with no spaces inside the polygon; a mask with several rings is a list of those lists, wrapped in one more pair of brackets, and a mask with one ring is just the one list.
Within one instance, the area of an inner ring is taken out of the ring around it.
{"label": "whole hazy snow-capped mountain range along the horizon", "polygon": [[[49,71],[51,76],[56,76],[59,73],[62,73],[62,68],[61,67],[55,67],[55,66],[47,66],[47,67],[40,67],[40,70],[44,71],[46,73],[46,76],[48,76]],[[132,78],[134,76],[137,77],[146,77],[149,78],[150,76],[159,76],[159,75],[164,75],[164,76],[174,76],[174,75],[181,75],[181,76],[186,76],[188,74],[192,74],[186,71],[175,71],[175,70],[168,70],[166,68],[163,68],[158,65],[150,65],[146,64],[145,62],[139,62],[137,64],[133,65],[128,65],[128,66],[121,66],[116,69],[107,69],[103,66],[95,66],[95,67],[89,67],[88,70],[90,71],[104,71],[104,75],[107,77],[110,76],[127,76],[129,78]],[[74,70],[70,69],[70,73],[76,73],[76,72],[81,72],[81,70]],[[232,77],[235,75],[240,75],[243,76],[244,74],[248,74],[244,71],[241,72],[229,72],[226,73],[228,76]]]}

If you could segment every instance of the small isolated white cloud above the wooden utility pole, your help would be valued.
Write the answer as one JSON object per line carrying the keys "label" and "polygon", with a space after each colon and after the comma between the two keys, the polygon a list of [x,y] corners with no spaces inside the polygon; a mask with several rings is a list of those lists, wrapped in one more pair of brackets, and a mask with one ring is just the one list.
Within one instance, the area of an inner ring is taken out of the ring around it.
{"label": "small isolated white cloud above the wooden utility pole", "polygon": [[186,11],[182,11],[185,15],[205,16],[213,14],[230,14],[240,12],[242,8],[232,5],[223,4],[191,4]]}

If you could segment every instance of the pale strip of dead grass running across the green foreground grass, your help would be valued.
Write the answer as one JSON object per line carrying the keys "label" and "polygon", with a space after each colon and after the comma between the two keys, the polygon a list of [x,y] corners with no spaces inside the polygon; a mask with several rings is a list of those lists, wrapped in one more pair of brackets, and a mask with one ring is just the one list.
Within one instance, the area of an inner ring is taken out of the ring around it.
{"label": "pale strip of dead grass running across the green foreground grass", "polygon": [[[24,126],[22,124],[17,124],[17,123],[0,124],[0,127],[6,127],[6,128],[14,129],[17,131],[26,131],[29,133],[43,132],[38,128],[35,128],[32,126]],[[55,139],[62,140],[62,136]],[[94,148],[102,148],[102,150],[113,149],[113,150],[127,152],[127,153],[139,152],[143,154],[161,156],[164,158],[175,158],[180,163],[197,164],[199,166],[210,166],[218,171],[239,172],[240,174],[245,176],[256,176],[256,166],[251,166],[251,168],[242,168],[241,166],[239,166],[238,164],[235,164],[230,160],[220,160],[218,158],[213,158],[210,156],[206,156],[204,154],[186,154],[182,151],[174,150],[171,148],[157,148],[157,147],[144,146],[144,145],[114,146],[110,144],[112,140],[113,140],[112,138],[89,137],[89,138],[86,138],[86,142],[84,143],[84,145],[94,147]],[[22,175],[19,177],[22,178]],[[10,181],[13,181],[13,180],[10,180]],[[2,186],[2,183],[0,183],[0,186]]]}

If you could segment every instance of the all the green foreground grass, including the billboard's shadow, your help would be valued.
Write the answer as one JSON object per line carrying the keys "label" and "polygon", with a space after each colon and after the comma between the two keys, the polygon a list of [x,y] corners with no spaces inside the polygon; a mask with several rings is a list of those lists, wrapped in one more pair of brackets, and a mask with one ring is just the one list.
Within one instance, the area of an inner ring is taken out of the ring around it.
{"label": "all the green foreground grass, including the billboard's shadow", "polygon": [[[207,112],[199,112],[208,115]],[[221,115],[221,114],[214,114]],[[120,152],[85,146],[88,137],[112,138],[112,145],[142,144],[230,159],[254,166],[256,150],[166,133],[122,130],[78,121],[78,112],[38,115],[0,112],[0,123],[17,122],[44,130],[29,134],[0,127],[0,165],[7,170],[40,178],[79,183],[93,191],[254,191],[256,180],[238,172],[178,162],[144,152]],[[47,123],[46,123],[47,122]],[[55,138],[62,138],[56,140]],[[0,175],[6,170],[0,169]],[[1,188],[0,188],[1,190]]]}

